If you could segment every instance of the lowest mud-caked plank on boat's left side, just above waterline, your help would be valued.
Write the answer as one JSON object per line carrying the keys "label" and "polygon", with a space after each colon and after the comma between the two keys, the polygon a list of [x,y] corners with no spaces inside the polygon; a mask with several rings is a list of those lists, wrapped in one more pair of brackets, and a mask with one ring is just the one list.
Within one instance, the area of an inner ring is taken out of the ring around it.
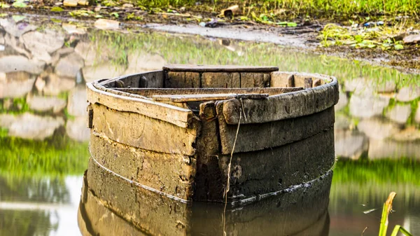
{"label": "lowest mud-caked plank on boat's left side, just above waterline", "polygon": [[193,195],[195,158],[175,153],[157,153],[120,144],[92,132],[90,155],[99,164],[120,176],[188,199]]}

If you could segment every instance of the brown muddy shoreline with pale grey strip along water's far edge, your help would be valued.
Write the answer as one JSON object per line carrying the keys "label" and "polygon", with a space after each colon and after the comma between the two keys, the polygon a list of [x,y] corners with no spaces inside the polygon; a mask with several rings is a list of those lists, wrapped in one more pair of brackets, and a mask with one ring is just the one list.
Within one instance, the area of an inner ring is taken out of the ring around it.
{"label": "brown muddy shoreline with pale grey strip along water's far edge", "polygon": [[[34,22],[59,20],[84,27],[93,27],[95,18],[72,17],[70,11],[50,12],[45,8],[9,8],[3,11],[2,17],[23,15]],[[211,14],[203,14],[204,20],[209,20]],[[116,19],[118,20],[118,19]],[[169,32],[171,34],[193,34],[207,38],[232,39],[237,41],[254,41],[274,43],[279,46],[305,50],[308,53],[334,55],[349,60],[369,62],[375,65],[393,67],[412,74],[420,73],[420,50],[418,46],[409,46],[404,50],[381,50],[381,48],[351,48],[349,46],[333,46],[325,48],[321,45],[318,35],[327,22],[305,22],[297,27],[279,27],[258,24],[251,21],[217,22],[214,27],[200,26],[179,15],[144,14],[141,20],[118,20],[118,32]]]}

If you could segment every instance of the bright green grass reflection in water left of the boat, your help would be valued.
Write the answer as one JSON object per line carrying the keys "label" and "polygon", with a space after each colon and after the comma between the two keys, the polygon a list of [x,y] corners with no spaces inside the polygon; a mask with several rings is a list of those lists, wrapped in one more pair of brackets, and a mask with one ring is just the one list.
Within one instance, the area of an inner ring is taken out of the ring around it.
{"label": "bright green grass reflection in water left of the boat", "polygon": [[87,144],[59,142],[0,137],[0,172],[18,176],[82,174],[89,157]]}

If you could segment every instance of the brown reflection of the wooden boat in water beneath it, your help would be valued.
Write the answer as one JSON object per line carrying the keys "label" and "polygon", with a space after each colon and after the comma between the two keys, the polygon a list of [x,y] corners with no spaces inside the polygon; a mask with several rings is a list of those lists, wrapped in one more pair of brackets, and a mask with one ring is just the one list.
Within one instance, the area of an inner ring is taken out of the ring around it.
{"label": "brown reflection of the wooden boat in water beneath it", "polygon": [[[137,186],[90,159],[78,225],[83,235],[328,235],[332,171],[235,206],[183,203]],[[225,220],[224,220],[225,219]]]}

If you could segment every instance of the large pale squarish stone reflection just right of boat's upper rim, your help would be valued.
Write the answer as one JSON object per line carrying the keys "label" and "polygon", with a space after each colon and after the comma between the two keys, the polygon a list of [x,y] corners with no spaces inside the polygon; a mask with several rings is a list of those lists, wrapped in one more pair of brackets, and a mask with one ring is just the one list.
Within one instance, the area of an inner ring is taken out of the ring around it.
{"label": "large pale squarish stone reflection just right of boat's upper rim", "polygon": [[349,108],[351,116],[370,118],[372,116],[381,116],[388,104],[389,97],[353,94],[350,98]]}

